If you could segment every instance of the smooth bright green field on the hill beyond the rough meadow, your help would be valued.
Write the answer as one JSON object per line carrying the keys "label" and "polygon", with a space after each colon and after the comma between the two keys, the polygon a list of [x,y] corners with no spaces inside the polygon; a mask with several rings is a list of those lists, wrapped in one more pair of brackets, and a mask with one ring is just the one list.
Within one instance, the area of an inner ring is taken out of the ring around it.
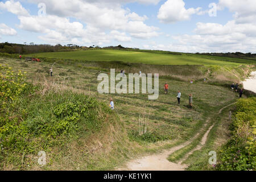
{"label": "smooth bright green field on the hill beyond the rough meadow", "polygon": [[[230,57],[205,56],[189,53],[173,55],[168,53],[119,51],[96,49],[89,51],[46,52],[24,56],[36,56],[57,59],[87,60],[87,61],[123,61],[125,63],[144,63],[158,65],[220,65],[237,66],[242,63],[254,63],[255,60],[243,60]],[[254,61],[254,62],[253,62]]]}

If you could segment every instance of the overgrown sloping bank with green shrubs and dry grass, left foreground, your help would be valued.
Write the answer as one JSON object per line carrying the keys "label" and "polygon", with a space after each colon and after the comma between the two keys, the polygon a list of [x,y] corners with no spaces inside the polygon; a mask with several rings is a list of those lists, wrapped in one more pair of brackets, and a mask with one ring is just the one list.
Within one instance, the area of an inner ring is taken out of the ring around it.
{"label": "overgrown sloping bank with green shrubs and dry grass, left foreground", "polygon": [[131,147],[117,115],[96,98],[51,81],[32,85],[2,65],[0,73],[1,170],[109,169]]}

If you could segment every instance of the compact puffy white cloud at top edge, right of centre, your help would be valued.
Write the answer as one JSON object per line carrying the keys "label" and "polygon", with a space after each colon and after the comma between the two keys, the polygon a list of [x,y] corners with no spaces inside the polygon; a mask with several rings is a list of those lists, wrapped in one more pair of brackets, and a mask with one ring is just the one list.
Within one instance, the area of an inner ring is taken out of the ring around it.
{"label": "compact puffy white cloud at top edge, right of centre", "polygon": [[158,19],[163,23],[189,20],[192,14],[201,14],[201,7],[185,9],[183,0],[167,0],[159,9]]}

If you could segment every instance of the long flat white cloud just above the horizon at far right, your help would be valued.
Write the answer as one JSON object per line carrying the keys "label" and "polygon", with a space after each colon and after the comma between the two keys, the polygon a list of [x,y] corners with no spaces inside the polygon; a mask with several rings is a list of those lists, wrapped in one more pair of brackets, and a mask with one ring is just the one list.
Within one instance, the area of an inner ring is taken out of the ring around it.
{"label": "long flat white cloud just above the horizon at far right", "polygon": [[172,36],[175,43],[167,48],[181,52],[254,52],[256,38],[241,32]]}

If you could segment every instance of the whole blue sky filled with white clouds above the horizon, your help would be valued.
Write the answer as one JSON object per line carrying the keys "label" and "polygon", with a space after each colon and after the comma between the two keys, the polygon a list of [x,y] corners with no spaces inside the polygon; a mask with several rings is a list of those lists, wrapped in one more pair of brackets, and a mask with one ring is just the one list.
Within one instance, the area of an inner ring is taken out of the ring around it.
{"label": "whole blue sky filled with white clouds above the horizon", "polygon": [[254,0],[9,0],[0,1],[0,42],[255,52],[255,19]]}

